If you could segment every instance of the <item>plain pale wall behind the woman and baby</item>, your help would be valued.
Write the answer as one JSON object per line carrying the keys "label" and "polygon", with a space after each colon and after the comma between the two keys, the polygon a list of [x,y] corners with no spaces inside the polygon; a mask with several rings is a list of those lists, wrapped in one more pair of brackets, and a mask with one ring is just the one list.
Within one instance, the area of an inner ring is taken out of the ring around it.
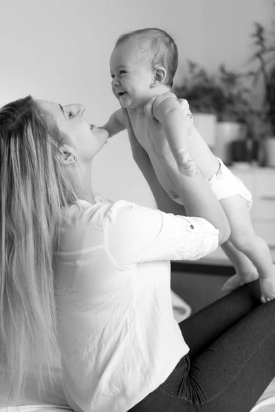
{"label": "plain pale wall behind the woman and baby", "polygon": [[[27,94],[86,106],[104,124],[118,108],[109,55],[116,38],[160,27],[176,40],[179,60],[208,69],[242,68],[252,51],[253,21],[270,26],[273,0],[0,0],[0,106]],[[177,78],[180,77],[180,68]],[[126,134],[111,139],[94,161],[94,189],[117,200],[153,206]]]}

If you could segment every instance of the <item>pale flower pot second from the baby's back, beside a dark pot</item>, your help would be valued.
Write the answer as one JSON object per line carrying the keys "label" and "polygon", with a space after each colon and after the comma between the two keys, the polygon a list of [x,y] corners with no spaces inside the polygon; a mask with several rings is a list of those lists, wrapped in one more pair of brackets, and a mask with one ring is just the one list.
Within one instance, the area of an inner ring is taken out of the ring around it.
{"label": "pale flower pot second from the baby's back, beside a dark pot", "polygon": [[241,136],[241,124],[237,122],[218,122],[214,155],[226,164],[231,163],[231,144]]}

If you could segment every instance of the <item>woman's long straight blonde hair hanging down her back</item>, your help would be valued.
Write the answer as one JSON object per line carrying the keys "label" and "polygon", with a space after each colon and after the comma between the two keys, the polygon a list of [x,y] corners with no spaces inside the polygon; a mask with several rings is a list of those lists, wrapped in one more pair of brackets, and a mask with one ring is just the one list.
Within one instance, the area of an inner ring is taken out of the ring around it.
{"label": "woman's long straight blonde hair hanging down her back", "polygon": [[61,163],[64,137],[31,96],[0,109],[0,347],[9,398],[27,376],[39,392],[58,359],[55,251],[77,201]]}

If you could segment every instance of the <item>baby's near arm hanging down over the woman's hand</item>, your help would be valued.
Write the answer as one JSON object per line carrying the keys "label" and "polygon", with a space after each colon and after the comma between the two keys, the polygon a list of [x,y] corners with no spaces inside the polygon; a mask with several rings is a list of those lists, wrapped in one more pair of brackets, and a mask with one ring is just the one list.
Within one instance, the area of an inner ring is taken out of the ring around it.
{"label": "baby's near arm hanging down over the woman's hand", "polygon": [[186,169],[182,164],[182,155],[188,151],[188,122],[181,108],[179,100],[173,93],[166,93],[155,98],[153,115],[162,124],[170,150],[175,157],[179,171],[190,175],[194,170]]}

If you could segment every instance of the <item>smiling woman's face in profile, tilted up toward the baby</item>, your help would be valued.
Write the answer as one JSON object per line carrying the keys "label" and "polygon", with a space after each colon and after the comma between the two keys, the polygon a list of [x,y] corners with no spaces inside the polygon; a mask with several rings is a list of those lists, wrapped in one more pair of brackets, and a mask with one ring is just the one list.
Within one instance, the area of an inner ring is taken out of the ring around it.
{"label": "smiling woman's face in profile, tilted up toward the baby", "polygon": [[102,128],[89,124],[83,113],[85,107],[81,104],[61,104],[36,100],[44,111],[54,118],[58,129],[67,136],[72,153],[82,161],[91,160],[108,139],[108,132]]}

